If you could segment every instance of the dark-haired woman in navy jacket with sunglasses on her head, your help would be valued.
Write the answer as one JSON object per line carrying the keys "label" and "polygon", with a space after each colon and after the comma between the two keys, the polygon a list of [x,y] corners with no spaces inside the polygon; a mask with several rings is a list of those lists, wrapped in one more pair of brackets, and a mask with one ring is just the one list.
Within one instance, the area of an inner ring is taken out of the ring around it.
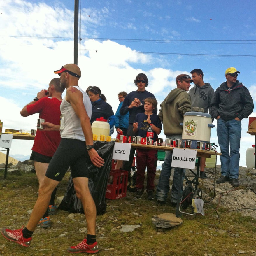
{"label": "dark-haired woman in navy jacket with sunglasses on her head", "polygon": [[89,86],[86,90],[92,102],[91,124],[96,118],[103,117],[108,120],[110,129],[115,125],[115,115],[112,107],[106,102],[106,97],[101,94],[101,90],[97,86]]}

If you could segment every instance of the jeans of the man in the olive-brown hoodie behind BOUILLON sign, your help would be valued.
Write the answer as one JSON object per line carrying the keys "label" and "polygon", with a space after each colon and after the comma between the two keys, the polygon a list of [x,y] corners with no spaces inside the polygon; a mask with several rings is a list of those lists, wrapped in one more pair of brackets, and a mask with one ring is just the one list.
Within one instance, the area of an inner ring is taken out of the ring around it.
{"label": "jeans of the man in the olive-brown hoodie behind BOUILLON sign", "polygon": [[[172,135],[166,136],[166,138],[171,139],[181,139],[181,135]],[[180,173],[183,171],[185,173],[184,168],[171,167],[171,159],[172,159],[172,151],[165,151],[164,163],[162,164],[162,170],[159,177],[159,182],[157,185],[157,193],[156,199],[159,201],[165,201],[167,198],[167,194],[170,190],[169,179],[171,176],[171,169],[174,168],[173,173],[173,183],[171,187],[171,202],[176,203],[178,198],[178,192],[182,192],[183,185],[180,186]]]}

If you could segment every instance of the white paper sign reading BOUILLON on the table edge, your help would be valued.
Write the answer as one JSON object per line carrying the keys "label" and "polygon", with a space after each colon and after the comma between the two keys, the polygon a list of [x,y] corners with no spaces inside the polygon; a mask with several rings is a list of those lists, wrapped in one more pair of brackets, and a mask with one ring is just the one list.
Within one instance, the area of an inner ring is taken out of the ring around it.
{"label": "white paper sign reading BOUILLON on the table edge", "polygon": [[180,167],[187,169],[195,169],[197,158],[197,150],[185,148],[173,148],[172,167]]}

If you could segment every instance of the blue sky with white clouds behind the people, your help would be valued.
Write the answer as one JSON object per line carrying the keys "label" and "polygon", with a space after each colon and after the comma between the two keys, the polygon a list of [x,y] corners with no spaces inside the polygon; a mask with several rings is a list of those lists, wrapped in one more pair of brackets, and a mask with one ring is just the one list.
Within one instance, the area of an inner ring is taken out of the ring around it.
{"label": "blue sky with white clouds behind the people", "polygon": [[[23,118],[20,110],[47,88],[54,70],[73,62],[73,9],[71,0],[0,2],[3,129],[35,129],[38,116]],[[114,112],[118,92],[136,90],[141,72],[159,104],[176,76],[195,68],[216,90],[234,66],[256,98],[255,1],[80,1],[79,12],[79,85],[100,87]],[[242,125],[240,165],[246,166],[254,137],[246,134],[248,119]],[[215,130],[211,141],[218,144]],[[31,146],[14,140],[10,155],[30,155]]]}

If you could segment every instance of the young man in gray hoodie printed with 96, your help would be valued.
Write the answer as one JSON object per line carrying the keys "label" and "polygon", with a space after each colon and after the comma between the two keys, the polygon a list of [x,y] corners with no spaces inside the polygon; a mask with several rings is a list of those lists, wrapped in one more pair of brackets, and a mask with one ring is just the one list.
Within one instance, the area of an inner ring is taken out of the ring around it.
{"label": "young man in gray hoodie printed with 96", "polygon": [[[211,115],[211,101],[213,99],[214,90],[209,83],[204,83],[204,73],[201,69],[193,69],[191,72],[191,77],[195,86],[189,90],[189,95],[191,97],[191,107],[199,107],[204,109],[204,113]],[[200,161],[200,178],[208,179],[204,172],[205,157],[201,157]]]}

